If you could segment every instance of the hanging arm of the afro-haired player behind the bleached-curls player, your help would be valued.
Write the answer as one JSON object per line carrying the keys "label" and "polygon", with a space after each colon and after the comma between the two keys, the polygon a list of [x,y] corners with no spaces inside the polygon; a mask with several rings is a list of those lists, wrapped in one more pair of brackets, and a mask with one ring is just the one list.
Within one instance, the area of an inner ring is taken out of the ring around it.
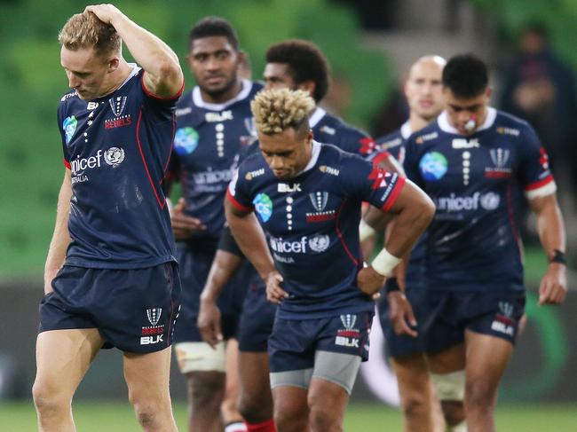
{"label": "hanging arm of the afro-haired player behind the bleached-curls player", "polygon": [[[234,243],[230,230],[225,227],[220,238],[217,254],[210,266],[209,277],[202,289],[201,305],[198,313],[198,328],[202,339],[214,347],[223,340],[220,328],[220,310],[218,310],[217,300],[220,297],[226,283],[233,278],[234,273],[241,267],[244,256],[238,247],[226,247],[227,244]],[[236,244],[234,243],[234,246]]]}

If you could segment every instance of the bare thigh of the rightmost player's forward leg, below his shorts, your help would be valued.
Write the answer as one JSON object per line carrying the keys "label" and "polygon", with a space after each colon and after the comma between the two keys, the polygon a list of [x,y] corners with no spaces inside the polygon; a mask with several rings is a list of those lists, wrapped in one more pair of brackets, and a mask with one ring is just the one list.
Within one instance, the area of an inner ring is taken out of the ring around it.
{"label": "bare thigh of the rightmost player's forward leg, below his shorts", "polygon": [[488,334],[465,331],[467,365],[465,368],[467,388],[482,387],[479,391],[494,393],[502,374],[509,364],[513,344],[503,338]]}

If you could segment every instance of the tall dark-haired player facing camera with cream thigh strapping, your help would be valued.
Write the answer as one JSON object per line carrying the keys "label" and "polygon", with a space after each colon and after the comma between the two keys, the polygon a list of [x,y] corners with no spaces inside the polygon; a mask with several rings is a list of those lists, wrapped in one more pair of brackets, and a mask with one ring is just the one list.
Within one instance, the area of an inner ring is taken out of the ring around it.
{"label": "tall dark-haired player facing camera with cream thigh strapping", "polygon": [[[254,270],[249,263],[219,299],[224,337],[214,348],[197,327],[199,296],[225,224],[223,200],[240,154],[256,139],[249,102],[261,89],[241,79],[244,54],[228,21],[208,17],[189,36],[188,66],[197,86],[177,106],[170,175],[182,185],[172,211],[183,282],[182,309],[175,332],[175,352],[185,374],[189,430],[244,430],[236,409],[236,366],[226,367],[225,351],[235,357],[234,340],[244,293]],[[222,420],[220,412],[222,411]]]}

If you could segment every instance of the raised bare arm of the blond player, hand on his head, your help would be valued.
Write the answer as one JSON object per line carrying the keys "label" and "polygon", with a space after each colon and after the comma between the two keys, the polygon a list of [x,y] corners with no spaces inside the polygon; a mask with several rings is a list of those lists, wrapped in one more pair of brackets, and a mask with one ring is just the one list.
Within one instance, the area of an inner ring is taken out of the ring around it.
{"label": "raised bare arm of the blond player, hand on his head", "polygon": [[146,90],[161,98],[172,98],[182,90],[184,75],[178,57],[160,38],[138,26],[112,4],[87,6],[99,20],[115,27],[130,54],[145,70]]}

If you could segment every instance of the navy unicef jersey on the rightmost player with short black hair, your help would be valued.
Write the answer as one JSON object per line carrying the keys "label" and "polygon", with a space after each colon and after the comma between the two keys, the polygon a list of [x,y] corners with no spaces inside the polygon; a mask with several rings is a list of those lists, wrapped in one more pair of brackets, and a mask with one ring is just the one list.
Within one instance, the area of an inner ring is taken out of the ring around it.
{"label": "navy unicef jersey on the rightmost player with short black hair", "polygon": [[464,137],[442,113],[408,138],[405,169],[437,208],[426,232],[428,286],[523,290],[513,200],[519,190],[531,199],[557,189],[531,126],[488,108]]}

